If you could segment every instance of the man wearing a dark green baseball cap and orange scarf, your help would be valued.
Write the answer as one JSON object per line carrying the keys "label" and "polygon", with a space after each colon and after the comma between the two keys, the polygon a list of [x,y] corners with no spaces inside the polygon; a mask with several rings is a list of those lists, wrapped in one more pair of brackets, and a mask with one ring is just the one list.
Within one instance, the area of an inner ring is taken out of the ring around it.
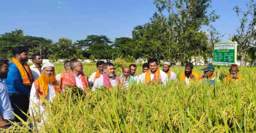
{"label": "man wearing a dark green baseball cap and orange scarf", "polygon": [[214,66],[212,64],[208,64],[206,68],[203,70],[204,75],[201,77],[201,80],[205,82],[210,82],[214,86],[215,74],[214,74]]}

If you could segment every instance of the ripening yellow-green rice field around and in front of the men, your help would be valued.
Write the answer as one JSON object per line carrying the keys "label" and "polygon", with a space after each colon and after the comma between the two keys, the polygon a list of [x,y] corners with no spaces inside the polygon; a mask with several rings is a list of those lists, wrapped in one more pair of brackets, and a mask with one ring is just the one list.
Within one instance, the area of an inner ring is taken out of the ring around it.
{"label": "ripening yellow-green rice field around and in front of the men", "polygon": [[[142,64],[136,74],[142,72]],[[203,67],[194,67],[200,75]],[[64,70],[55,64],[56,73]],[[85,63],[88,78],[97,70]],[[215,74],[216,74],[215,68]],[[174,66],[176,82],[162,85],[134,85],[128,90],[115,87],[83,92],[73,88],[49,104],[47,121],[33,132],[60,133],[252,133],[256,132],[256,68],[240,67],[243,80],[225,84],[228,68],[221,67],[215,87],[202,82],[189,86],[179,81],[184,67]],[[121,69],[116,70],[119,74]],[[33,122],[29,118],[28,122]],[[15,124],[5,132],[29,132],[30,127]]]}

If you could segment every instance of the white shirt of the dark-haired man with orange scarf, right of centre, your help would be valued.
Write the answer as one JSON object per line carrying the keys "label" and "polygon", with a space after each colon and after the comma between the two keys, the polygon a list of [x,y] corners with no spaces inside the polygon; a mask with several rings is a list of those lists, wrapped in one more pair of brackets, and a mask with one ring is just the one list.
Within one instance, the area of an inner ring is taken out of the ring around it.
{"label": "white shirt of the dark-haired man with orange scarf, right of centre", "polygon": [[[160,70],[160,75],[161,75],[161,82],[163,83],[163,85],[166,85],[166,81],[168,79],[168,76],[165,72],[163,72],[162,70]],[[145,76],[146,76],[146,72],[141,74],[139,77],[137,77],[137,83],[145,83]],[[155,74],[152,74],[150,71],[150,79],[151,81],[154,79]]]}

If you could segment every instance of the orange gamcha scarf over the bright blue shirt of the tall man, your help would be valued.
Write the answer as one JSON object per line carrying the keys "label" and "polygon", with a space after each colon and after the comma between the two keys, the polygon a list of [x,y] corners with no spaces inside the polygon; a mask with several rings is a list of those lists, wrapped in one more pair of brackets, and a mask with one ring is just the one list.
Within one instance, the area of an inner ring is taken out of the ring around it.
{"label": "orange gamcha scarf over the bright blue shirt of the tall man", "polygon": [[19,72],[22,76],[22,80],[23,80],[23,84],[25,86],[31,86],[34,82],[33,79],[33,75],[32,72],[27,64],[27,62],[24,62],[24,67],[22,66],[22,64],[20,64],[16,59],[12,59],[12,62],[17,66],[17,68],[19,69]]}

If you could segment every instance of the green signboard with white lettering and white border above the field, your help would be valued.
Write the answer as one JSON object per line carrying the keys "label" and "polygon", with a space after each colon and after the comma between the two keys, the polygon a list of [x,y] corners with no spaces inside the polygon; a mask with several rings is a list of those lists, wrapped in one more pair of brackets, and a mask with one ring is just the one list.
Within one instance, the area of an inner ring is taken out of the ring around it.
{"label": "green signboard with white lettering and white border above the field", "polygon": [[213,51],[213,65],[229,66],[237,61],[237,42],[216,43]]}

